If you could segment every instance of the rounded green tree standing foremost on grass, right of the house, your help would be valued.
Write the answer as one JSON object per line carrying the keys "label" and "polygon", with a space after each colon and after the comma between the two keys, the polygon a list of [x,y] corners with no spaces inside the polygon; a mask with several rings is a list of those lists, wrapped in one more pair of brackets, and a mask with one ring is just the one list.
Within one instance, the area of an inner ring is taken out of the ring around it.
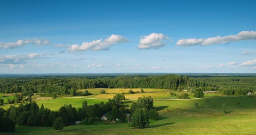
{"label": "rounded green tree standing foremost on grass, right of the house", "polygon": [[145,128],[149,126],[149,117],[145,109],[138,108],[134,111],[131,126],[134,128]]}

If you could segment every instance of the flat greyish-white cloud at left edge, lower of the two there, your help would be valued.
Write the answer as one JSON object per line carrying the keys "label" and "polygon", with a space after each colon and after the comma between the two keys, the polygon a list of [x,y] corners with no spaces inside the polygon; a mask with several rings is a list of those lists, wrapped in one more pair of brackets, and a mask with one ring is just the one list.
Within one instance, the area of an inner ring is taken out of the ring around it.
{"label": "flat greyish-white cloud at left edge, lower of the two there", "polygon": [[33,53],[27,55],[7,55],[0,56],[0,64],[24,64],[27,60],[39,59],[42,56],[52,55],[44,53]]}

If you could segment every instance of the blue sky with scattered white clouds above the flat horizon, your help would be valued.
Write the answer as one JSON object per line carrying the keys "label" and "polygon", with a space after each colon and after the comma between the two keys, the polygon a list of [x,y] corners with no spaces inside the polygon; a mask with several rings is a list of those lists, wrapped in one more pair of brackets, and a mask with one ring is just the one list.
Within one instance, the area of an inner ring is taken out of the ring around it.
{"label": "blue sky with scattered white clouds above the flat horizon", "polygon": [[121,72],[256,73],[256,1],[0,1],[0,73]]}

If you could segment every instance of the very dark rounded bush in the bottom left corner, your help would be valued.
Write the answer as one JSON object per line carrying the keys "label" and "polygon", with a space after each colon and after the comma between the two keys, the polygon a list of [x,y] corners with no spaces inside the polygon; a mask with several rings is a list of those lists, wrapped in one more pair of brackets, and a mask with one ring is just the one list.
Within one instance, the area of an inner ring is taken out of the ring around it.
{"label": "very dark rounded bush in the bottom left corner", "polygon": [[14,131],[15,123],[8,117],[0,117],[0,132]]}

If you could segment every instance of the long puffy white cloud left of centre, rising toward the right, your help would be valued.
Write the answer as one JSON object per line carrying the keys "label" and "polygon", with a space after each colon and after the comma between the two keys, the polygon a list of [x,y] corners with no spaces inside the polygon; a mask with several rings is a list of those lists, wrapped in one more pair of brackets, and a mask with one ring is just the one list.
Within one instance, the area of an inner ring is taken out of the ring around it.
{"label": "long puffy white cloud left of centre, rising toward the right", "polygon": [[86,51],[86,50],[109,50],[111,46],[114,44],[125,43],[128,42],[127,38],[124,38],[120,35],[111,35],[110,37],[106,38],[102,41],[93,40],[92,42],[83,42],[82,45],[74,44],[68,48],[69,52],[76,52],[76,51]]}

